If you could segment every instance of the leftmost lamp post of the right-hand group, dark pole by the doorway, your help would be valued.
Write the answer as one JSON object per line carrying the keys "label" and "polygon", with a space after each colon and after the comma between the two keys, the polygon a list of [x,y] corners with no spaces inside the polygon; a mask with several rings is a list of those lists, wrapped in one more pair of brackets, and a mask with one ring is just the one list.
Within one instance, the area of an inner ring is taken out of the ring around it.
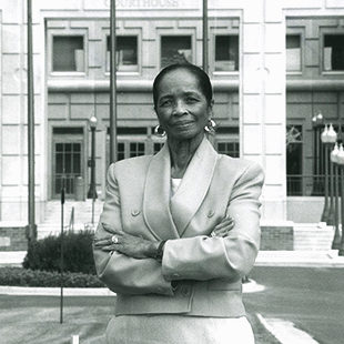
{"label": "leftmost lamp post of the right-hand group, dark pole by the doorway", "polygon": [[318,192],[322,190],[322,182],[321,182],[321,165],[320,165],[320,156],[321,156],[321,140],[320,140],[320,132],[324,125],[324,117],[321,112],[314,114],[312,118],[312,128],[313,128],[313,194],[318,195]]}

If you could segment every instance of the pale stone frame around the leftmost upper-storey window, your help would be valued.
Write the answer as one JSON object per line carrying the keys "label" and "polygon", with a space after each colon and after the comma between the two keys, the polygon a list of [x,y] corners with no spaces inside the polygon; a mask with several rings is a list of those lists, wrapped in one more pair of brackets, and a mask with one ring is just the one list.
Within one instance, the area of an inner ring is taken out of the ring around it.
{"label": "pale stone frame around the leftmost upper-storey window", "polygon": [[[83,41],[83,63],[84,63],[84,71],[54,71],[53,70],[53,38],[54,37],[82,37]],[[48,73],[50,77],[85,77],[89,73],[89,63],[88,63],[88,55],[89,55],[89,47],[88,47],[88,32],[85,29],[48,29]]]}

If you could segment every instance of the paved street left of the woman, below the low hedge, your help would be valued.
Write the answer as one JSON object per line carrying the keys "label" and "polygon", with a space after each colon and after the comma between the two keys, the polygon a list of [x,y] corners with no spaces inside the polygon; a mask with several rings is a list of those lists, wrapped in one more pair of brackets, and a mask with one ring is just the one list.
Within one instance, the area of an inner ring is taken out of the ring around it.
{"label": "paved street left of the woman, below the low hedge", "polygon": [[60,324],[60,297],[0,295],[0,344],[104,344],[104,331],[113,312],[110,297],[64,297]]}

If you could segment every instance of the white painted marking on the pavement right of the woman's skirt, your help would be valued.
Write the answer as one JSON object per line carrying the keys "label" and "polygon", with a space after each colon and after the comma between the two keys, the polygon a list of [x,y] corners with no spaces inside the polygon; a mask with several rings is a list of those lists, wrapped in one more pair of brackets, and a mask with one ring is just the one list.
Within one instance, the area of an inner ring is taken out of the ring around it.
{"label": "white painted marking on the pavement right of the woman's skirt", "polygon": [[282,344],[318,344],[310,334],[295,327],[294,323],[282,318],[264,318],[256,314],[261,324]]}

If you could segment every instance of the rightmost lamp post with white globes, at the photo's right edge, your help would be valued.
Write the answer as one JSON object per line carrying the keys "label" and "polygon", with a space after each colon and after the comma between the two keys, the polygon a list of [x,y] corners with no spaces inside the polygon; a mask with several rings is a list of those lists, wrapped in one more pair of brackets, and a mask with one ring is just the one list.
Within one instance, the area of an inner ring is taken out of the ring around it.
{"label": "rightmost lamp post with white globes, at the photo's right edge", "polygon": [[[338,250],[341,245],[341,233],[340,233],[340,179],[338,179],[338,165],[337,156],[340,153],[338,144],[335,143],[333,151],[331,152],[331,164],[334,171],[334,237],[332,242],[332,250]],[[342,221],[343,222],[343,221]]]}

